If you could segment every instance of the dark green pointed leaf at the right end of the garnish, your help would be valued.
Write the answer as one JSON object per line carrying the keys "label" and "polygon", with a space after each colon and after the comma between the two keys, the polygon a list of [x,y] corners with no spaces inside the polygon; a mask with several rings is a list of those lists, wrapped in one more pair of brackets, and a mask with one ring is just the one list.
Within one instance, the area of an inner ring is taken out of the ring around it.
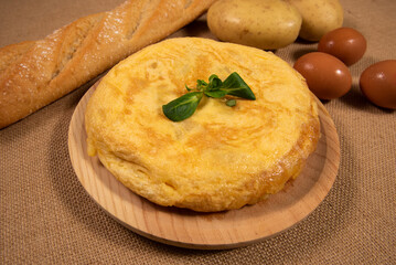
{"label": "dark green pointed leaf at the right end of the garnish", "polygon": [[246,99],[255,100],[255,94],[253,94],[250,87],[245,81],[236,73],[232,73],[224,82],[221,91],[226,91],[227,95],[237,96]]}

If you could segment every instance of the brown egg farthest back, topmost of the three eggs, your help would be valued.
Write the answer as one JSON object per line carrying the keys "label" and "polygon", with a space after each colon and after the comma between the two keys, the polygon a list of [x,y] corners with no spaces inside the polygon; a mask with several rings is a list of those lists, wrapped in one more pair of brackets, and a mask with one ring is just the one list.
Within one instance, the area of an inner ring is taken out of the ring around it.
{"label": "brown egg farthest back, topmost of the three eggs", "polygon": [[351,28],[339,28],[322,36],[318,51],[329,53],[345,65],[352,65],[361,60],[366,51],[366,39]]}

